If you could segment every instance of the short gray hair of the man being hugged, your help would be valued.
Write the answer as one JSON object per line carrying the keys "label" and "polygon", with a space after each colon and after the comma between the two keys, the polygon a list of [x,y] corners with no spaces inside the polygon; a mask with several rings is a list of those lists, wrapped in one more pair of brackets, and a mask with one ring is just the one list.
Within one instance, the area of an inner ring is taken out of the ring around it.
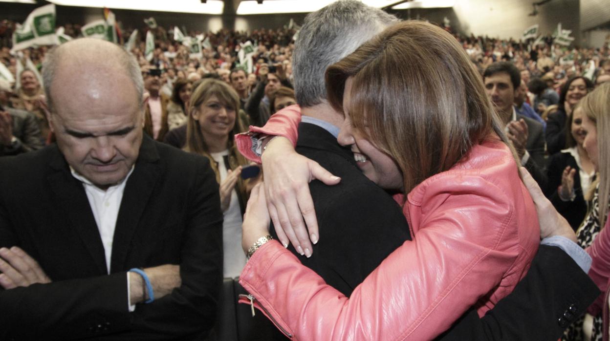
{"label": "short gray hair of the man being hugged", "polygon": [[398,21],[381,9],[355,0],[340,0],[309,13],[293,52],[296,102],[311,107],[325,101],[326,68]]}

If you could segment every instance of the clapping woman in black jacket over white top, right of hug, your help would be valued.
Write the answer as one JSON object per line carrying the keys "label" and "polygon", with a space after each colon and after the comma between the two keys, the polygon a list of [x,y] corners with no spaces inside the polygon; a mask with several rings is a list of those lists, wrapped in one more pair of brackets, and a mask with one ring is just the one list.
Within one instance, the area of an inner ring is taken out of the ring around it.
{"label": "clapping woman in black jacket over white top, right of hug", "polygon": [[546,195],[576,231],[587,214],[584,196],[589,192],[595,170],[583,147],[586,133],[580,106],[568,114],[568,121],[570,129],[566,129],[566,149],[553,154],[548,164]]}

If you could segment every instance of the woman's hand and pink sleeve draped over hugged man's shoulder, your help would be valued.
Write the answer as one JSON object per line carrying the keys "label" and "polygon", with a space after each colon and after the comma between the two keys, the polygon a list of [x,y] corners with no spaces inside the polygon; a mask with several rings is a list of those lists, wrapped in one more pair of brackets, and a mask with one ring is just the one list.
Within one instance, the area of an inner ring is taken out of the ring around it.
{"label": "woman's hand and pink sleeve draped over hugged man's shoulder", "polygon": [[[309,193],[309,181],[318,179],[326,185],[335,185],[340,179],[317,162],[296,153],[294,146],[300,121],[300,107],[286,107],[271,115],[264,127],[251,126],[249,132],[235,135],[235,143],[246,159],[258,163],[264,161],[264,174],[273,174],[266,178],[265,192],[279,240],[283,245],[290,241],[300,254],[309,255],[313,249],[311,241],[315,243],[318,240],[318,220]],[[262,142],[261,135],[281,137],[273,141],[267,138]],[[262,143],[267,143],[265,160],[261,157]]]}

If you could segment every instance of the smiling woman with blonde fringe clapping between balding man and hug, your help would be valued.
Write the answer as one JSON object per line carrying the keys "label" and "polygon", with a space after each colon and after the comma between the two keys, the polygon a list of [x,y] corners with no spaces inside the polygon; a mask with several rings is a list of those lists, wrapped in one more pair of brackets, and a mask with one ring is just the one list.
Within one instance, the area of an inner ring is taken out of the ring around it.
{"label": "smiling woman with blonde fringe clapping between balding man and hug", "polygon": [[242,252],[242,215],[248,200],[240,177],[248,161],[237,151],[234,135],[243,131],[237,120],[239,96],[226,82],[204,79],[188,101],[187,142],[184,149],[206,156],[220,184],[224,214],[224,277],[237,277],[246,264]]}

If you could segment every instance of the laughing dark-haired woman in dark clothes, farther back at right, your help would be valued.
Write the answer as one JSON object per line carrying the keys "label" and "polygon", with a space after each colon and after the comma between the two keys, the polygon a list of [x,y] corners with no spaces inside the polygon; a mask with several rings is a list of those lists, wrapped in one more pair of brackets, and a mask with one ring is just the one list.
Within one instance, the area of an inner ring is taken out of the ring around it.
{"label": "laughing dark-haired woman in dark clothes, farther back at right", "polygon": [[545,137],[549,154],[558,153],[566,147],[565,126],[567,125],[567,116],[576,107],[578,101],[591,90],[593,90],[593,82],[583,76],[572,77],[561,87],[559,108],[556,112],[548,115],[547,118]]}

